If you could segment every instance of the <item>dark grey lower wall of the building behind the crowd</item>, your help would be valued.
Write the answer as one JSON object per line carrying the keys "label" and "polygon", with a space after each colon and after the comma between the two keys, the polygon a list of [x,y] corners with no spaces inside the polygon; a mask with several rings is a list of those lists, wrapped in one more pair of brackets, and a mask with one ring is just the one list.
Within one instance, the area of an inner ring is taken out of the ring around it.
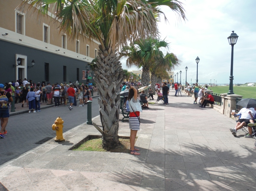
{"label": "dark grey lower wall of the building behind the crowd", "polygon": [[[82,70],[86,70],[85,66],[87,64],[85,61],[0,40],[0,83],[16,80],[16,68],[13,68],[15,54],[26,55],[28,66],[32,65],[32,60],[35,60],[35,66],[27,69],[27,79],[34,83],[45,81],[44,63],[49,63],[49,81],[51,83],[63,83],[63,66],[67,66],[67,82],[77,80],[77,68],[79,68],[79,82],[86,82],[86,80],[82,80]],[[94,80],[90,81],[93,82]]]}

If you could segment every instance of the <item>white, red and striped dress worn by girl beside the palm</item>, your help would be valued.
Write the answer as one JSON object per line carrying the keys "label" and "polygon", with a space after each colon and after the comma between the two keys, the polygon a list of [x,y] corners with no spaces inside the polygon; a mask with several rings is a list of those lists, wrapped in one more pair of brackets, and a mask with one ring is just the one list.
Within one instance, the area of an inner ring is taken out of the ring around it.
{"label": "white, red and striped dress worn by girl beside the palm", "polygon": [[[129,101],[129,108],[129,128],[138,131],[140,130],[140,122],[138,118],[140,117],[140,111],[142,111],[141,104],[139,103],[138,99],[134,100],[134,98],[132,97],[132,100]],[[135,115],[135,113],[137,114],[138,117]]]}

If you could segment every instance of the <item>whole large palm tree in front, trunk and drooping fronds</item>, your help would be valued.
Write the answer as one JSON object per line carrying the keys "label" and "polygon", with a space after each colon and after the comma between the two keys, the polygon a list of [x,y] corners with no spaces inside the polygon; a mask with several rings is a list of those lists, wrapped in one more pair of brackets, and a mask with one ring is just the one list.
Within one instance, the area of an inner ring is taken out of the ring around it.
{"label": "whole large palm tree in front, trunk and drooping fronds", "polygon": [[94,126],[103,135],[103,147],[114,148],[119,145],[118,90],[124,77],[118,51],[128,42],[157,34],[159,15],[165,16],[160,5],[168,6],[185,20],[182,3],[178,0],[24,0],[19,7],[33,9],[40,16],[48,13],[49,4],[54,5],[53,18],[56,23],[60,21],[60,32],[73,40],[86,37],[100,43],[94,80],[100,96],[102,129]]}

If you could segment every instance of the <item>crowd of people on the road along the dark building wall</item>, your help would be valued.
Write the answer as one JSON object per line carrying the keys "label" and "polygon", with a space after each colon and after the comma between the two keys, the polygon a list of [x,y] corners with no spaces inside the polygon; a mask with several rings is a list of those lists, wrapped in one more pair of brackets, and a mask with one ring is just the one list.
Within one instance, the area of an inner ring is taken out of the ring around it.
{"label": "crowd of people on the road along the dark building wall", "polygon": [[[0,84],[0,121],[1,130],[0,137],[5,138],[7,134],[6,125],[9,118],[9,108],[13,101],[12,96],[15,97],[15,103],[21,103],[21,107],[27,107],[29,113],[40,112],[41,102],[47,103],[47,105],[55,104],[55,107],[59,107],[62,103],[69,108],[73,109],[73,106],[77,106],[79,101],[79,107],[87,104],[87,101],[91,99],[91,91],[94,86],[91,82],[86,84],[72,84],[69,83],[54,83],[38,82],[32,83],[32,80],[17,80]],[[68,106],[69,102],[69,106]]]}

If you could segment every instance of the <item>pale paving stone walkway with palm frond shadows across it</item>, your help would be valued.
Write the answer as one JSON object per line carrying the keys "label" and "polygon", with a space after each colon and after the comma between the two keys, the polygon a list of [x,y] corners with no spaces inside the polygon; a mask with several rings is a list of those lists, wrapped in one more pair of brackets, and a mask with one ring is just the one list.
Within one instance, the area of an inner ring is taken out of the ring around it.
{"label": "pale paving stone walkway with palm frond shadows across it", "polygon": [[[121,119],[119,135],[129,136]],[[99,117],[93,121],[100,125]],[[1,165],[0,190],[254,191],[255,140],[241,131],[233,137],[234,126],[235,120],[171,90],[169,105],[150,104],[141,113],[140,156],[69,151],[87,135],[100,134],[82,124],[64,134],[64,143],[49,140]]]}

